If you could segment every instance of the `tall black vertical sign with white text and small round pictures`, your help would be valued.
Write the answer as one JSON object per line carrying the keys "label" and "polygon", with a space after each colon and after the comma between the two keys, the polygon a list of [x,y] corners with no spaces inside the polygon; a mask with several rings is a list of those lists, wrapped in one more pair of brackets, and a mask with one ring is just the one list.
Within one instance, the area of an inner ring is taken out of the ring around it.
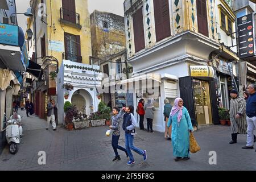
{"label": "tall black vertical sign with white text and small round pictures", "polygon": [[238,47],[240,59],[255,56],[254,14],[237,19]]}

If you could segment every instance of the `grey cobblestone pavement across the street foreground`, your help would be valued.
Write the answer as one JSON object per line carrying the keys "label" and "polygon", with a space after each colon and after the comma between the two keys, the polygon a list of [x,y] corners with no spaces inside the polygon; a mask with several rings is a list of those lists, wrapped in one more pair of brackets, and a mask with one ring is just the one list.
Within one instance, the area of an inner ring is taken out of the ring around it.
{"label": "grey cobblestone pavement across the street foreground", "polygon": [[[6,146],[0,156],[0,170],[256,170],[256,152],[241,148],[245,146],[246,135],[238,135],[238,143],[229,144],[228,126],[212,125],[195,131],[201,151],[179,162],[174,161],[171,142],[164,139],[163,133],[137,130],[134,144],[147,150],[148,158],[143,161],[141,155],[133,152],[136,163],[127,166],[128,160],[122,151],[119,151],[121,160],[112,162],[112,138],[105,136],[108,126],[73,131],[58,126],[56,131],[47,131],[46,121],[35,116],[27,118],[26,111],[21,114],[22,144],[15,155],[11,155]],[[119,145],[125,146],[123,132]],[[46,151],[46,165],[38,164],[39,151]],[[216,165],[209,164],[209,151],[216,151]]]}

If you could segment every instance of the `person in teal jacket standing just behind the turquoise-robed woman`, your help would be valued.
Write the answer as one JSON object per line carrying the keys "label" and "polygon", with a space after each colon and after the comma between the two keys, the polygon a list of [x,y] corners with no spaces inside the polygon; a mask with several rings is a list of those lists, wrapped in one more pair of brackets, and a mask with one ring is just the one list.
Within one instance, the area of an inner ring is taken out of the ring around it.
{"label": "person in teal jacket standing just behind the turquoise-robed woman", "polygon": [[166,122],[166,130],[164,131],[164,138],[166,138],[167,140],[172,140],[171,136],[172,136],[172,125],[170,127],[167,127],[167,122],[169,120],[169,116],[172,110],[172,106],[170,104],[170,101],[168,100],[168,98],[166,98],[164,100],[164,121]]}

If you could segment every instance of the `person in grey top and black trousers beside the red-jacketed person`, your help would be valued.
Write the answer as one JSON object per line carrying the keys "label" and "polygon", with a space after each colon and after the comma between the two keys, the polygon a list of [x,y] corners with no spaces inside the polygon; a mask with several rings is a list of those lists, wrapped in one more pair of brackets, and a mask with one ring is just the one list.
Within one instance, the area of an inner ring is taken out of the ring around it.
{"label": "person in grey top and black trousers beside the red-jacketed person", "polygon": [[153,105],[153,100],[148,99],[147,104],[144,106],[145,117],[147,119],[147,132],[153,133],[153,119],[154,119],[154,111],[155,107]]}

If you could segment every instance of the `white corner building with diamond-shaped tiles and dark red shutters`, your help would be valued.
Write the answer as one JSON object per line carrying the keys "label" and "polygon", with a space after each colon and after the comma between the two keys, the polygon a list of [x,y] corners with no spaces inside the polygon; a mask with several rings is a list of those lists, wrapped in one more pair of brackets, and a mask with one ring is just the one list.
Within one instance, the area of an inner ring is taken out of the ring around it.
{"label": "white corner building with diamond-shaped tiles and dark red shutters", "polygon": [[183,98],[194,127],[219,124],[218,107],[229,109],[229,92],[240,87],[232,6],[224,0],[126,0],[124,8],[133,76],[121,82],[132,88],[134,107],[152,97],[146,85],[153,80],[159,88],[155,130],[165,128],[165,98],[171,105]]}

